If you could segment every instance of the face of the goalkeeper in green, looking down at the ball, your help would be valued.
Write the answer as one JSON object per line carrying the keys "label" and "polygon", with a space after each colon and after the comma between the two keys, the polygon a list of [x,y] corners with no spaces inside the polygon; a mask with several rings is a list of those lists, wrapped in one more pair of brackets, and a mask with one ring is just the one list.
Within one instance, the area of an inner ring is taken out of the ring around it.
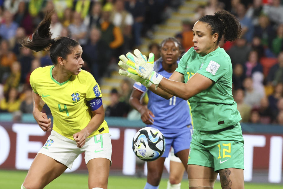
{"label": "face of the goalkeeper in green, looking down at the ball", "polygon": [[211,35],[210,26],[207,23],[197,21],[193,27],[194,50],[200,55],[207,55],[213,51],[218,34]]}

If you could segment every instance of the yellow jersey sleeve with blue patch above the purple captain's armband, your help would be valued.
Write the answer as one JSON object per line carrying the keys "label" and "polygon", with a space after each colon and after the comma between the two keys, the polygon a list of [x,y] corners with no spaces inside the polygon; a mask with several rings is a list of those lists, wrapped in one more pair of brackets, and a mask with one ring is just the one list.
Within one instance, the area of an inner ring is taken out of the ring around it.
{"label": "yellow jersey sleeve with blue patch above the purple captain's armband", "polygon": [[87,78],[86,82],[87,84],[87,91],[86,91],[86,100],[90,101],[94,98],[100,98],[102,97],[102,93],[100,90],[100,87],[98,85],[98,83],[96,83],[96,80],[94,79],[94,77],[89,74],[89,77]]}

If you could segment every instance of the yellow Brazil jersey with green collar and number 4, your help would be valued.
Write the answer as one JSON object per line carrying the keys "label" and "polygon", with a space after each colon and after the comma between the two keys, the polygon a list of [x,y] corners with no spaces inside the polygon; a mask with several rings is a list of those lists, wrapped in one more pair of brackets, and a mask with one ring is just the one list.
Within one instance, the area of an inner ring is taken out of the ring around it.
{"label": "yellow Brazil jersey with green collar and number 4", "polygon": [[[50,108],[54,131],[73,139],[73,134],[84,129],[91,119],[92,113],[86,101],[102,97],[102,94],[89,72],[81,70],[78,75],[72,75],[67,81],[59,83],[52,77],[53,68],[46,66],[35,69],[30,75],[30,85]],[[108,132],[104,120],[89,137]]]}

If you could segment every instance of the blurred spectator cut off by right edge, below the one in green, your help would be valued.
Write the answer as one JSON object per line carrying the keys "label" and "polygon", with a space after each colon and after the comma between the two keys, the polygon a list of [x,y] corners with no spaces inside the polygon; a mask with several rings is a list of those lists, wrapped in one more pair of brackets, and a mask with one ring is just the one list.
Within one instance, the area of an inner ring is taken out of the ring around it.
{"label": "blurred spectator cut off by right edge, below the one in green", "polygon": [[279,52],[277,59],[278,63],[270,68],[266,77],[266,81],[273,86],[283,82],[283,51]]}

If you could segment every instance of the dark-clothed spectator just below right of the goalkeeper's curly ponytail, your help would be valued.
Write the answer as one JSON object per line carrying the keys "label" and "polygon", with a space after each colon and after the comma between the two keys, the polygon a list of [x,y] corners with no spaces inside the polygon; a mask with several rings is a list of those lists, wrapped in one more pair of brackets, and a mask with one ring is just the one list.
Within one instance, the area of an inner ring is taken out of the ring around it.
{"label": "dark-clothed spectator just below right of the goalkeeper's curly ponytail", "polygon": [[248,54],[250,51],[251,47],[247,45],[245,38],[241,37],[240,39],[237,39],[234,45],[227,52],[231,58],[232,66],[234,67],[236,64],[244,66],[248,60]]}

